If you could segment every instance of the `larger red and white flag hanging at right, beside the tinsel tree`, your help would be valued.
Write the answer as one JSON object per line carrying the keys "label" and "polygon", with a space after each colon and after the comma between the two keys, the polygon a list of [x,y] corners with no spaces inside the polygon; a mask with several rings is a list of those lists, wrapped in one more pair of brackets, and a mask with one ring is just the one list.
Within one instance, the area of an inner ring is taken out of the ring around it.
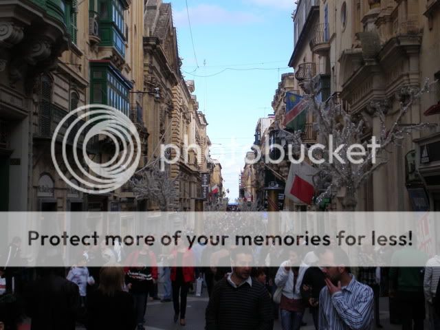
{"label": "larger red and white flag hanging at right, beside the tinsel tree", "polygon": [[290,164],[289,177],[287,177],[284,192],[285,197],[292,199],[295,203],[310,205],[315,192],[313,176],[317,172],[316,168],[306,162]]}

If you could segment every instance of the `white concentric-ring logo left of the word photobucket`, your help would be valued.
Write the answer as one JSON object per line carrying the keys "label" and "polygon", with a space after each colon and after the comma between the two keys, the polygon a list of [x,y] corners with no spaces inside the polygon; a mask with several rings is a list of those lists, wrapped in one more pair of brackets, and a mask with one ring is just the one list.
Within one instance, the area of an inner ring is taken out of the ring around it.
{"label": "white concentric-ring logo left of the word photobucket", "polygon": [[[113,155],[104,162],[96,162],[97,157],[90,157],[87,150],[89,142],[99,137],[112,144]],[[57,159],[57,142],[61,142],[61,159]],[[78,157],[78,150],[82,157]],[[89,194],[102,194],[119,188],[135,173],[141,155],[140,137],[133,122],[118,109],[90,104],[69,112],[59,122],[52,137],[51,155],[66,184]]]}

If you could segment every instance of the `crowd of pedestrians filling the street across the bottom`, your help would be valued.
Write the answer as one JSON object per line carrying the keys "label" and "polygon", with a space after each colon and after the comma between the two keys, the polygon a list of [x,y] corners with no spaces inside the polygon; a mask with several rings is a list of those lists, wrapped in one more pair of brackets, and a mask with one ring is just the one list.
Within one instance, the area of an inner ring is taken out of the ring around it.
{"label": "crowd of pedestrians filling the street across the bottom", "polygon": [[[19,239],[12,241],[4,254],[6,267],[0,270],[0,322],[5,329],[17,329],[23,318],[30,318],[32,330],[74,330],[78,325],[146,329],[151,318],[164,317],[148,313],[148,298],[159,300],[159,280],[162,303],[173,302],[170,323],[184,327],[188,293],[201,283],[197,278],[203,278],[208,290],[206,330],[270,330],[277,318],[283,330],[297,330],[305,325],[305,313],[319,330],[380,329],[384,294],[394,314],[390,319],[401,329],[424,329],[426,312],[429,329],[440,329],[440,254],[426,260],[411,247],[393,255],[393,264],[401,262],[401,267],[351,269],[347,254],[338,248],[196,244],[189,249],[180,244],[161,251],[148,245],[127,251],[121,244],[113,249],[102,245],[78,256],[74,267],[43,267],[31,274],[17,267],[20,245]],[[362,250],[361,263],[371,264],[376,253]],[[404,267],[408,256],[426,260],[426,267]],[[61,255],[45,258],[62,264]],[[90,267],[96,259],[105,267]],[[252,267],[262,262],[267,267]],[[188,267],[198,264],[205,267]]]}

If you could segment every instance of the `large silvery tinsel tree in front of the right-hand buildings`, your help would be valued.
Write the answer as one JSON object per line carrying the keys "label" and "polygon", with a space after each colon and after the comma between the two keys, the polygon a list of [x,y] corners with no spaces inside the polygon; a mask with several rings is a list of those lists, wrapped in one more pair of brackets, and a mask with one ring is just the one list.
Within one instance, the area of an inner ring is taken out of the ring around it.
{"label": "large silvery tinsel tree in front of the right-hand buildings", "polygon": [[[345,196],[342,200],[342,207],[344,210],[352,211],[358,204],[357,191],[358,188],[368,179],[376,170],[388,162],[388,153],[391,153],[391,146],[399,146],[401,140],[404,139],[411,131],[425,129],[428,126],[433,126],[429,123],[420,124],[403,124],[403,118],[415,104],[419,98],[430,91],[430,87],[435,84],[426,80],[421,89],[415,87],[406,87],[399,91],[400,107],[393,113],[387,113],[388,108],[386,104],[382,102],[371,102],[369,104],[368,112],[371,115],[377,115],[380,120],[380,136],[376,136],[377,144],[380,147],[377,148],[377,159],[374,162],[374,155],[371,149],[367,147],[371,144],[370,140],[362,140],[364,132],[364,120],[359,118],[353,118],[350,113],[347,113],[345,109],[340,105],[333,102],[330,98],[329,102],[323,103],[316,100],[318,91],[312,87],[312,82],[308,83],[306,90],[310,91],[309,95],[305,96],[305,102],[307,102],[307,111],[313,115],[316,122],[314,123],[314,130],[319,133],[320,143],[325,146],[329,146],[329,137],[333,135],[333,145],[344,145],[338,153],[344,160],[342,162],[333,161],[329,162],[329,154],[333,151],[329,151],[325,148],[320,155],[316,157],[322,157],[324,161],[322,164],[317,165],[318,173],[314,176],[314,183],[321,191],[318,198],[316,198],[316,204],[320,205],[325,199],[334,197],[336,193],[345,188]],[[401,96],[404,95],[404,98]],[[390,122],[391,124],[386,124]],[[279,129],[279,127],[278,127]],[[302,136],[303,132],[295,131],[290,133],[283,129],[279,129],[279,134],[283,135],[287,144],[292,144],[292,151],[294,154],[300,152],[300,146],[303,144]],[[364,162],[362,164],[353,164],[347,157],[347,149],[352,144],[362,144],[366,150],[366,155],[363,157]],[[306,147],[306,152],[308,148]]]}

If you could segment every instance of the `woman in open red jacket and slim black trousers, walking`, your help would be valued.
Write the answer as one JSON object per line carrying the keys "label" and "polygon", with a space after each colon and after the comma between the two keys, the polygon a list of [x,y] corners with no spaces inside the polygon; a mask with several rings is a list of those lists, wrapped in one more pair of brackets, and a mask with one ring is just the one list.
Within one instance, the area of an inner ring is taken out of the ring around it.
{"label": "woman in open red jacket and slim black trousers, walking", "polygon": [[173,286],[174,322],[177,322],[180,314],[180,325],[186,325],[186,296],[190,284],[195,280],[193,267],[195,258],[191,250],[181,245],[173,251],[172,259],[171,265],[173,267],[171,267],[170,278]]}

